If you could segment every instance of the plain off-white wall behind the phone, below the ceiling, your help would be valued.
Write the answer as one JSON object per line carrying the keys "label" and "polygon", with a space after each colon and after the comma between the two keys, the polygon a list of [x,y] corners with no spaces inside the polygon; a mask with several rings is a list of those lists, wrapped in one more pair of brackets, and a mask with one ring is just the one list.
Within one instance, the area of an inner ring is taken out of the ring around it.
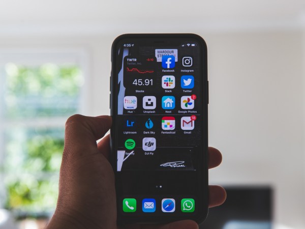
{"label": "plain off-white wall behind the phone, below the ceiling", "polygon": [[[209,142],[224,157],[212,184],[271,184],[277,223],[305,228],[303,34],[208,33]],[[88,110],[109,114],[116,35],[2,37],[1,48],[84,48]]]}

